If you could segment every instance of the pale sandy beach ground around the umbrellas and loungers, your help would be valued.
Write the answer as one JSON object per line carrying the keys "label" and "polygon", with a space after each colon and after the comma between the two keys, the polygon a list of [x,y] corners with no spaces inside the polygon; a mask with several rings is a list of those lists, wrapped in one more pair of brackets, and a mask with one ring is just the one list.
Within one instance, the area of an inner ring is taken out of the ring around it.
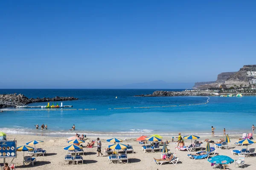
{"label": "pale sandy beach ground around the umbrellas and loungers", "polygon": [[[134,148],[134,153],[128,153],[128,159],[129,163],[108,163],[108,157],[107,156],[101,156],[97,157],[96,149],[97,147],[93,148],[84,148],[84,164],[64,164],[64,156],[67,154],[67,150],[63,150],[62,147],[67,145],[67,137],[50,137],[50,136],[32,136],[32,135],[8,135],[8,140],[12,140],[14,137],[16,137],[17,140],[17,146],[23,145],[26,142],[32,141],[34,139],[36,140],[43,140],[43,143],[37,144],[36,147],[43,148],[44,150],[47,150],[46,156],[39,156],[36,157],[35,165],[32,166],[31,164],[26,165],[23,167],[23,152],[17,152],[17,158],[14,159],[13,164],[16,165],[17,169],[24,169],[24,170],[33,170],[33,169],[41,169],[41,170],[55,170],[55,169],[61,169],[61,170],[70,170],[70,169],[90,169],[90,170],[105,170],[108,168],[122,168],[124,170],[167,170],[167,169],[183,169],[183,170],[212,170],[215,169],[211,167],[211,164],[207,161],[207,159],[200,159],[200,160],[192,160],[190,159],[187,154],[188,151],[177,151],[175,147],[177,146],[176,142],[171,142],[168,144],[169,152],[176,153],[176,156],[179,158],[179,161],[177,164],[163,164],[163,165],[157,165],[153,158],[160,158],[161,153],[155,152],[155,153],[144,153],[142,151],[141,145],[138,144],[137,141],[135,141],[135,138],[127,138],[123,144],[130,144]],[[86,142],[89,142],[89,139],[95,140],[96,136],[87,136],[88,140]],[[201,138],[199,141],[204,141],[204,139],[209,138],[210,140],[218,141],[218,139],[223,138],[223,136],[200,136]],[[237,141],[237,139],[241,137],[240,134],[238,135],[230,135],[231,143],[229,143],[229,149],[220,150],[217,148],[216,154],[219,155],[225,155],[230,156],[232,159],[238,159],[237,155],[232,155],[231,150],[240,150],[241,148],[244,148],[246,146],[236,146],[234,142]],[[106,142],[106,139],[109,139],[110,137],[101,137],[102,141],[102,153],[105,147],[108,147],[110,144],[109,142]],[[171,137],[164,137],[163,141],[166,139],[171,140]],[[191,140],[185,140],[185,145],[188,145],[191,143]],[[206,143],[202,144],[203,147],[206,146]],[[211,147],[214,146],[214,144],[211,144]],[[248,148],[255,148],[255,144],[249,145]],[[195,152],[192,152],[195,153]],[[25,153],[26,154],[26,153]],[[3,159],[2,159],[3,160]],[[254,170],[255,169],[255,157],[249,157],[245,158],[245,164],[246,164],[246,170]],[[11,159],[6,159],[6,161],[9,163]],[[229,169],[235,169],[234,163],[229,164]]]}

